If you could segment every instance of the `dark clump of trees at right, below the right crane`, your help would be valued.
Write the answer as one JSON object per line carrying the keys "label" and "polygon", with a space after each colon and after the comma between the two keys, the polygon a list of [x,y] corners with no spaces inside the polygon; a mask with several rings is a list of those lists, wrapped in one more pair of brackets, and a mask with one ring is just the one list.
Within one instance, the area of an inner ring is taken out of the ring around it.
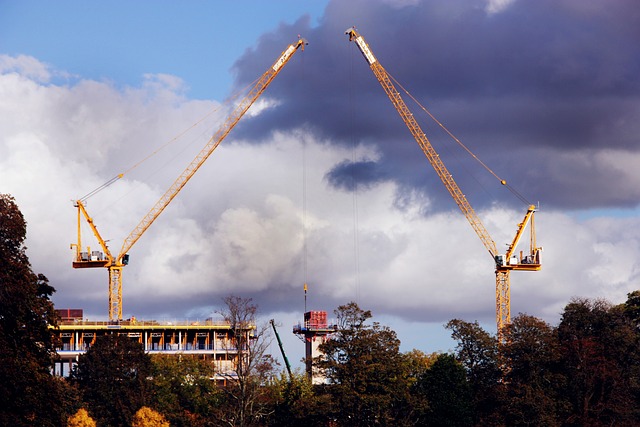
{"label": "dark clump of trees at right, below the right crane", "polygon": [[574,299],[557,327],[519,315],[499,348],[477,323],[451,321],[474,424],[640,425],[638,296],[618,306]]}

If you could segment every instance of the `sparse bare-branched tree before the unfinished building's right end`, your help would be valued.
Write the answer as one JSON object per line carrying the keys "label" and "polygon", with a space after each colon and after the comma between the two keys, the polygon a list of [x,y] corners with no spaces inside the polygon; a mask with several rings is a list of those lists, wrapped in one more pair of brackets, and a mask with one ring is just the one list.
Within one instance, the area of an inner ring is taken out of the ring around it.
{"label": "sparse bare-branched tree before the unfinished building's right end", "polygon": [[257,325],[258,306],[251,298],[234,295],[224,298],[225,308],[218,313],[231,329],[229,354],[232,369],[221,372],[227,386],[227,405],[221,412],[229,425],[247,426],[266,416],[267,405],[262,387],[273,375],[276,365],[266,351],[270,344],[269,326]]}

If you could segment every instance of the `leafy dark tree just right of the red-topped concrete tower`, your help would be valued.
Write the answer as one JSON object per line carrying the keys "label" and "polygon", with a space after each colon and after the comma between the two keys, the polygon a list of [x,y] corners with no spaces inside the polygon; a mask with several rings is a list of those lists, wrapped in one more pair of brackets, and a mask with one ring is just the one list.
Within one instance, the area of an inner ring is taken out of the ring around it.
{"label": "leafy dark tree just right of the red-topped concrete tower", "polygon": [[345,426],[399,425],[408,389],[396,333],[366,324],[371,312],[355,302],[334,313],[338,329],[314,361],[327,379],[333,417]]}

